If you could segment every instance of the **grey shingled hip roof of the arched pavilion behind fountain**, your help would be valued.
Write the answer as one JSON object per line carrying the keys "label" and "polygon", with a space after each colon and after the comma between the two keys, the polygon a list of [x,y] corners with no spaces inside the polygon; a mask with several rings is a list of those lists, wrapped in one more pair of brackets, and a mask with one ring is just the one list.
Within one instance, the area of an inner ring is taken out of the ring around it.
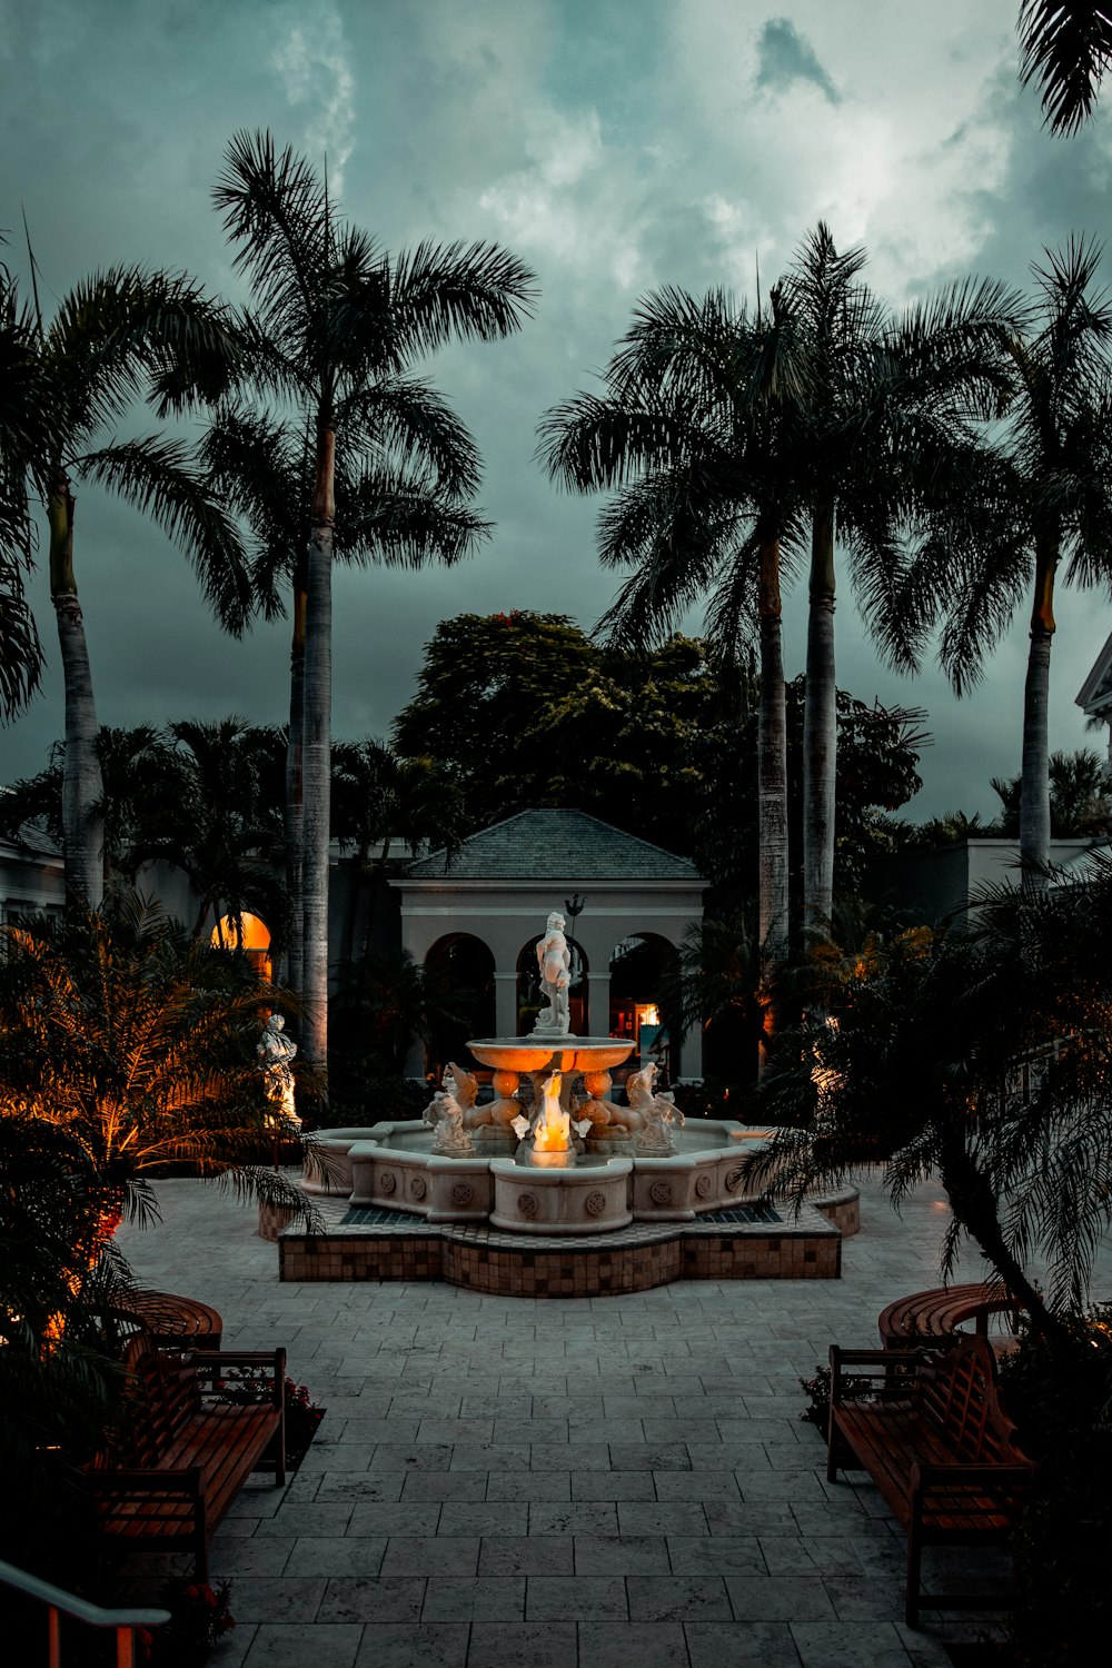
{"label": "grey shingled hip roof of the arched pavilion behind fountain", "polygon": [[585,811],[518,811],[465,839],[450,864],[445,852],[418,857],[407,879],[450,881],[692,881],[702,876],[635,834]]}

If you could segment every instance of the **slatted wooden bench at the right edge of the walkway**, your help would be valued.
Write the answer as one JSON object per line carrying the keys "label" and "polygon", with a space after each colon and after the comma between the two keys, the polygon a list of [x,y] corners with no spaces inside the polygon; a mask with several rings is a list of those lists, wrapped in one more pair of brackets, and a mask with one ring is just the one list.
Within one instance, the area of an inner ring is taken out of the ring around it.
{"label": "slatted wooden bench at the right edge of the walkway", "polygon": [[907,1530],[905,1616],[920,1608],[992,1610],[992,1595],[922,1593],[922,1550],[1002,1545],[1034,1476],[1000,1406],[987,1338],[937,1349],[830,1348],[827,1478],[867,1471]]}

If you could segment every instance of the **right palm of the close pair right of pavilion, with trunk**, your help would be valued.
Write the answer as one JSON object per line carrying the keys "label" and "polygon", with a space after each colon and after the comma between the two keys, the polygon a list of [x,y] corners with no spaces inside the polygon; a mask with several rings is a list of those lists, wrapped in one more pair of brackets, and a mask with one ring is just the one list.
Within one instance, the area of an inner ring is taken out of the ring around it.
{"label": "right palm of the close pair right of pavilion, with trunk", "polygon": [[834,902],[837,686],[835,549],[887,656],[914,664],[909,619],[894,605],[900,539],[924,495],[954,492],[979,455],[972,419],[995,415],[1007,375],[1000,344],[1017,300],[994,282],[960,282],[887,315],[859,282],[864,249],[839,254],[822,222],[784,280],[797,317],[789,422],[805,457],[810,517],[804,714],[804,917],[829,931]]}

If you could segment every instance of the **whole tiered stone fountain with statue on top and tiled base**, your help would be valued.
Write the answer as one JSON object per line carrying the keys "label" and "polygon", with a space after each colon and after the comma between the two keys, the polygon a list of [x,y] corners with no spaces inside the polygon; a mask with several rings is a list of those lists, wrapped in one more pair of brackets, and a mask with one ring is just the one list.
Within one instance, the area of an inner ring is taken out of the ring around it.
{"label": "whole tiered stone fountain with statue on top and tiled base", "polygon": [[[835,1276],[842,1233],[857,1231],[857,1191],[780,1216],[745,1163],[769,1131],[734,1119],[685,1126],[652,1063],[629,1076],[629,1104],[612,1101],[610,1071],[634,1044],[570,1031],[559,911],[537,961],[547,1001],[533,1031],[467,1044],[492,1069],[493,1099],[448,1063],[422,1119],[312,1138],[303,1186],[343,1203],[340,1249],[295,1244],[287,1229],[282,1278],[445,1278],[580,1294],[677,1278]],[[639,1238],[627,1243],[622,1229],[634,1224]]]}

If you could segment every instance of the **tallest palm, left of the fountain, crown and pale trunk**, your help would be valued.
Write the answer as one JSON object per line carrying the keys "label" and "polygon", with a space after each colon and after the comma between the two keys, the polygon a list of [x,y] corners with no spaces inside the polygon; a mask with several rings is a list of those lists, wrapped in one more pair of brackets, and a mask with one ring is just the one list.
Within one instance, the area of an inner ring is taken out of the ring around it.
{"label": "tallest palm, left of the fountain, crown and pale trunk", "polygon": [[[250,277],[253,374],[310,432],[313,490],[305,565],[303,699],[303,1054],[322,1073],[328,1037],[328,776],[332,557],[337,449],[382,464],[412,459],[450,499],[478,480],[470,435],[412,377],[422,354],[453,337],[517,330],[532,274],[488,244],[420,244],[390,260],[347,227],[308,163],[268,133],[238,133],[215,188],[235,267]],[[323,1079],[322,1079],[323,1081]]]}

